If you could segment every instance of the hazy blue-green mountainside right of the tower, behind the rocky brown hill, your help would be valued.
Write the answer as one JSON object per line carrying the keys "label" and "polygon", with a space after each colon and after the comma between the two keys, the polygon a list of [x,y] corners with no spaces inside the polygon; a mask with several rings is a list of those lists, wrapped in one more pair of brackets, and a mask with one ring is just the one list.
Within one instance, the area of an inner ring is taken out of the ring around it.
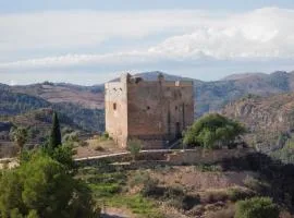
{"label": "hazy blue-green mountainside right of the tower, behind the rocky brown hill", "polygon": [[294,72],[274,72],[264,76],[252,74],[234,80],[200,83],[195,86],[197,114],[219,110],[247,94],[270,96],[293,90]]}

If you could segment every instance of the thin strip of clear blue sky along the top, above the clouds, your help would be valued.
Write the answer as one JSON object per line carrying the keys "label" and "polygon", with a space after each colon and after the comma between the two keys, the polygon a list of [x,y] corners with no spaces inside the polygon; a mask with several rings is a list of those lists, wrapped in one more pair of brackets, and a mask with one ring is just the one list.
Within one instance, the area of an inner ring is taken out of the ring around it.
{"label": "thin strip of clear blue sky along the top, above the clouds", "polygon": [[1,0],[1,13],[48,10],[132,11],[159,9],[204,9],[247,11],[265,7],[293,8],[292,0]]}

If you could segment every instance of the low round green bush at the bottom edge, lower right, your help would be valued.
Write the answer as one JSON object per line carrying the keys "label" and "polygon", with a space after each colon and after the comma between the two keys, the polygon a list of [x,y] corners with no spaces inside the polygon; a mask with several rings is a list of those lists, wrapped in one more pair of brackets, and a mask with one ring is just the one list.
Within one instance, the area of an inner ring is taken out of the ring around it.
{"label": "low round green bush at the bottom edge, lower right", "polygon": [[279,218],[279,208],[269,197],[253,197],[236,204],[235,218]]}

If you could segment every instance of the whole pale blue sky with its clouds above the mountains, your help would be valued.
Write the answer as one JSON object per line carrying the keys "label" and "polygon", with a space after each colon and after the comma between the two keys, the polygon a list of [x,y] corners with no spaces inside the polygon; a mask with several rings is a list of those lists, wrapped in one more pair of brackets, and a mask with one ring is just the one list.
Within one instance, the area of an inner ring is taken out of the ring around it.
{"label": "whole pale blue sky with its clouds above the mountains", "polygon": [[294,70],[293,0],[0,0],[0,83]]}

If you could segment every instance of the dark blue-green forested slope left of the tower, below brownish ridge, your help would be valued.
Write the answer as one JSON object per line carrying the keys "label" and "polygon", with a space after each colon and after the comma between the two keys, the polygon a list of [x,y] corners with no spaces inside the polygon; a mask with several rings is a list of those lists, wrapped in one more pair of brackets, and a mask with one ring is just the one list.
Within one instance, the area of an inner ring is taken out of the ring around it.
{"label": "dark blue-green forested slope left of the tower, below brownish ridge", "polygon": [[60,117],[66,117],[69,124],[81,130],[94,132],[105,130],[105,113],[101,109],[88,109],[73,102],[52,104],[40,97],[13,93],[11,89],[0,92],[0,121],[44,108],[58,111]]}

